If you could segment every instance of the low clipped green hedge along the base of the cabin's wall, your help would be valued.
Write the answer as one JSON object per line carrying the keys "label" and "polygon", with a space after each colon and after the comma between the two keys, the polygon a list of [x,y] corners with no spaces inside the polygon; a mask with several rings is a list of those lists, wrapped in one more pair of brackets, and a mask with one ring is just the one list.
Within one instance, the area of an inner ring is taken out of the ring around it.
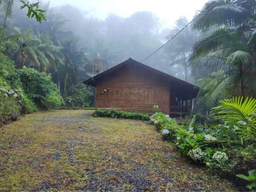
{"label": "low clipped green hedge along the base of the cabin's wall", "polygon": [[149,115],[146,113],[126,112],[121,110],[96,110],[93,114],[94,117],[110,117],[110,118],[123,118],[123,119],[135,119],[135,120],[149,120]]}

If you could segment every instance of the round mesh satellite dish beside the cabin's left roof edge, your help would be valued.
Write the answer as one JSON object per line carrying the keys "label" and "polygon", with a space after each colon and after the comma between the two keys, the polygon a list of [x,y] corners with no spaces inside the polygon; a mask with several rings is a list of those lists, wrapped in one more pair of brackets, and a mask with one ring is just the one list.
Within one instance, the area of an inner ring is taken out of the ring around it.
{"label": "round mesh satellite dish beside the cabin's left roof edge", "polygon": [[89,61],[84,66],[84,69],[88,76],[93,77],[103,71],[106,71],[108,69],[108,63],[102,59],[94,59]]}

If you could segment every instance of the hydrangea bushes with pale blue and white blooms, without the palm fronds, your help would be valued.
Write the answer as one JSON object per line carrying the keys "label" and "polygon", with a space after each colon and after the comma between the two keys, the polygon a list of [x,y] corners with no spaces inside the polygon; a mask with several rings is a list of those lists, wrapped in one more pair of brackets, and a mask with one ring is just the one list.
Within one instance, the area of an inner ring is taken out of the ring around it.
{"label": "hydrangea bushes with pale blue and white blooms, without the palm fronds", "polygon": [[241,140],[232,126],[212,122],[178,125],[175,119],[159,111],[149,119],[164,139],[193,162],[204,163],[212,172],[235,177],[237,173],[256,168],[255,144]]}

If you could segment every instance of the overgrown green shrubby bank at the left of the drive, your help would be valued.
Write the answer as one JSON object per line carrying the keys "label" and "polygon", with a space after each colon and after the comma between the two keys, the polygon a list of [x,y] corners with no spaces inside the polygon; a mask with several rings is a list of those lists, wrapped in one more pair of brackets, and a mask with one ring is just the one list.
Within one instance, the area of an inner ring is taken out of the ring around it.
{"label": "overgrown green shrubby bank at the left of the drive", "polygon": [[48,110],[63,103],[51,76],[32,68],[16,69],[0,52],[0,125],[19,114]]}

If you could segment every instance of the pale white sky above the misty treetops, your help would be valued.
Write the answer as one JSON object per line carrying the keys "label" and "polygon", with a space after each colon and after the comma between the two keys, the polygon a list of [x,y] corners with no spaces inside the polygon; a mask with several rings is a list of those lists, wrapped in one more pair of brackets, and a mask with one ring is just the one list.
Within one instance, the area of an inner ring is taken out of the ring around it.
{"label": "pale white sky above the misty treetops", "polygon": [[207,0],[50,0],[51,6],[70,4],[100,19],[108,14],[128,17],[136,11],[151,11],[163,27],[173,26],[180,16],[190,21]]}

